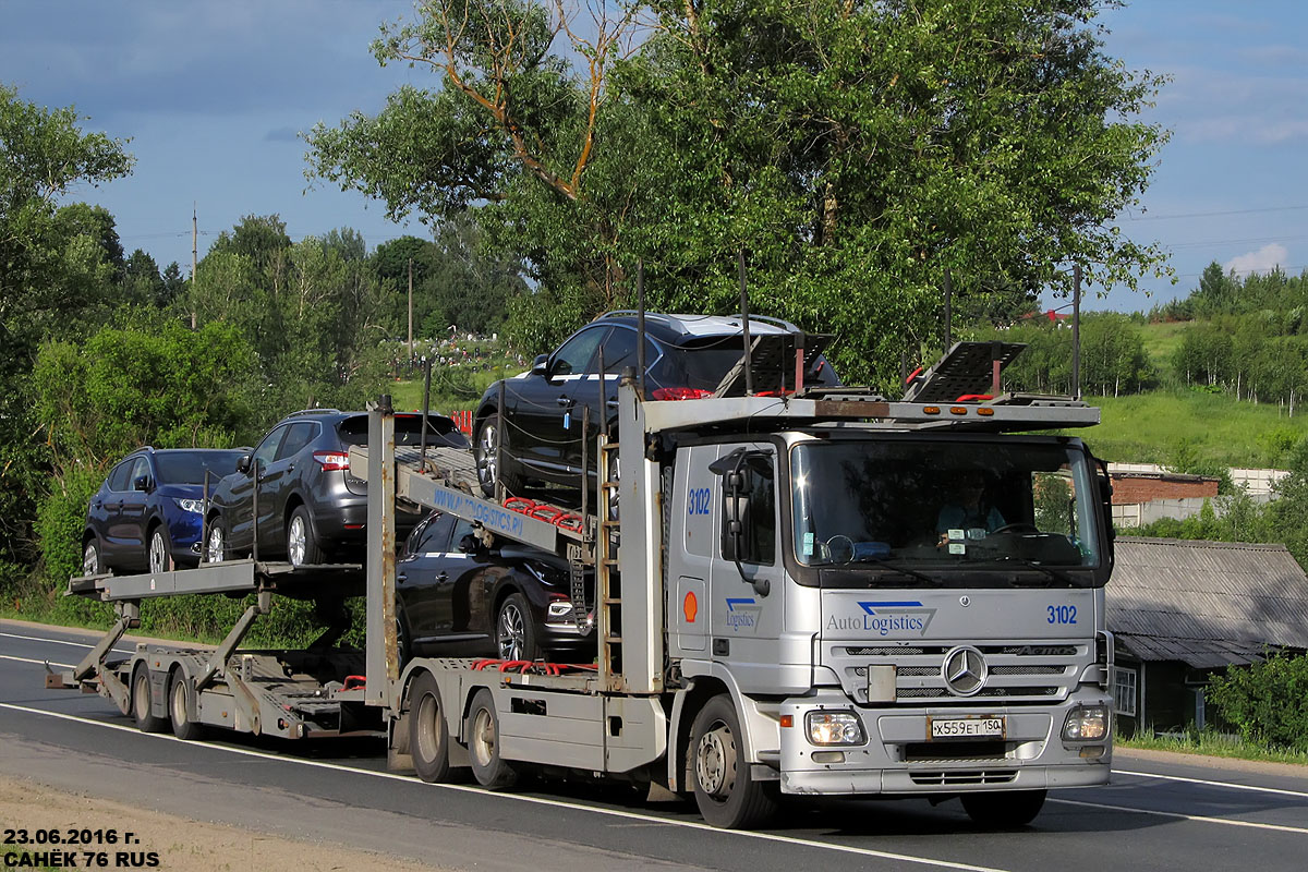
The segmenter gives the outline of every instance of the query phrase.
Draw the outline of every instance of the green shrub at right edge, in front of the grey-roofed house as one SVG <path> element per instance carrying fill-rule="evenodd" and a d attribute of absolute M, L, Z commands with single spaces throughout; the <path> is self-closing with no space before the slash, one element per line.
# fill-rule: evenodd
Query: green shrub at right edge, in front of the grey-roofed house
<path fill-rule="evenodd" d="M 1277 652 L 1214 676 L 1209 698 L 1240 736 L 1264 748 L 1308 750 L 1308 656 Z"/>

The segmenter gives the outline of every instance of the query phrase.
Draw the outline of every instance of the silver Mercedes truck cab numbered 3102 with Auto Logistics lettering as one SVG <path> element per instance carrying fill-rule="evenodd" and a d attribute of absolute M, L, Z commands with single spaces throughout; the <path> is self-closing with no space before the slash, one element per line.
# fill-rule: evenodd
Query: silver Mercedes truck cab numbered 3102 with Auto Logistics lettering
<path fill-rule="evenodd" d="M 664 566 L 675 680 L 730 694 L 751 778 L 1006 822 L 1105 782 L 1112 536 L 1080 439 L 753 429 L 674 439 Z"/>

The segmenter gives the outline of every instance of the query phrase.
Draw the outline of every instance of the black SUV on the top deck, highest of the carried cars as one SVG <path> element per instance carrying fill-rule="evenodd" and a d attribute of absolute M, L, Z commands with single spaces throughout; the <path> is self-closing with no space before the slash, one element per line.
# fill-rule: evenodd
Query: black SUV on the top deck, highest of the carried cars
<path fill-rule="evenodd" d="M 753 388 L 760 394 L 793 390 L 798 327 L 749 316 Z M 820 353 L 827 336 L 804 337 L 806 387 L 840 384 Z M 695 400 L 744 394 L 744 336 L 739 316 L 645 315 L 645 391 L 651 400 Z M 603 380 L 600 387 L 600 358 Z M 521 493 L 525 477 L 581 485 L 582 416 L 590 409 L 591 434 L 617 420 L 617 382 L 637 365 L 637 316 L 619 311 L 586 324 L 552 354 L 540 354 L 531 370 L 496 382 L 481 395 L 473 417 L 473 451 L 481 489 L 501 481 Z M 504 417 L 498 412 L 504 387 Z M 504 447 L 502 459 L 500 447 Z M 594 451 L 591 451 L 594 454 Z M 594 459 L 587 464 L 595 475 Z"/>

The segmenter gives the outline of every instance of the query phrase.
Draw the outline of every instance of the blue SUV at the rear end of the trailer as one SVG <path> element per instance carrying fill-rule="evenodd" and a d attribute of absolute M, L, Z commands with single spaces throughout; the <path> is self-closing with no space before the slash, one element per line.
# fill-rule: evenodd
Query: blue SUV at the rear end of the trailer
<path fill-rule="evenodd" d="M 82 574 L 165 573 L 199 563 L 204 473 L 217 486 L 242 454 L 145 446 L 123 458 L 86 509 Z"/>

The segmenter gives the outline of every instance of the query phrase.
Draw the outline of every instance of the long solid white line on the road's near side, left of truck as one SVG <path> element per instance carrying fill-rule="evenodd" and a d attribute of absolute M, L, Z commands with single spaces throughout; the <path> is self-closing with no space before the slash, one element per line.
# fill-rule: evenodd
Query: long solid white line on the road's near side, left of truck
<path fill-rule="evenodd" d="M 177 739 L 174 736 L 169 736 L 169 735 L 165 735 L 165 733 L 145 733 L 145 732 L 139 731 L 136 727 L 128 727 L 128 726 L 124 726 L 124 724 L 111 724 L 111 723 L 105 723 L 102 720 L 92 720 L 92 719 L 88 719 L 88 718 L 78 718 L 76 715 L 68 715 L 68 714 L 64 714 L 61 711 L 46 711 L 44 709 L 31 709 L 29 706 L 16 706 L 16 705 L 9 703 L 9 702 L 0 702 L 0 709 L 9 709 L 12 711 L 22 711 L 22 713 L 33 714 L 33 715 L 43 715 L 46 718 L 58 718 L 60 720 L 76 720 L 78 723 L 90 724 L 93 727 L 107 727 L 109 729 L 122 729 L 124 732 L 135 733 L 135 735 L 141 736 L 144 739 L 157 739 L 157 740 L 162 740 L 162 741 L 181 741 L 181 739 Z M 191 744 L 191 743 L 187 743 L 187 744 Z M 264 760 L 273 760 L 273 761 L 283 762 L 283 763 L 293 763 L 293 765 L 297 765 L 297 766 L 313 766 L 315 769 L 335 769 L 335 770 L 339 770 L 339 771 L 353 773 L 356 775 L 370 775 L 373 778 L 387 778 L 387 779 L 399 780 L 399 782 L 404 782 L 404 783 L 408 783 L 408 784 L 416 784 L 416 786 L 422 786 L 422 787 L 436 787 L 436 788 L 441 788 L 441 790 L 458 791 L 458 792 L 463 792 L 463 794 L 480 794 L 481 796 L 487 796 L 487 797 L 506 799 L 506 800 L 514 800 L 514 801 L 518 801 L 518 803 L 530 803 L 530 804 L 534 804 L 534 805 L 551 805 L 551 807 L 555 807 L 555 808 L 568 808 L 568 809 L 573 809 L 573 811 L 578 811 L 578 812 L 594 812 L 596 814 L 603 814 L 606 817 L 619 817 L 619 818 L 624 818 L 624 820 L 629 820 L 629 821 L 642 821 L 642 822 L 646 822 L 646 824 L 658 824 L 658 825 L 662 825 L 662 826 L 678 826 L 678 828 L 681 828 L 681 829 L 705 830 L 705 831 L 709 831 L 709 833 L 719 833 L 719 834 L 726 835 L 726 837 L 739 837 L 739 838 L 757 839 L 757 841 L 761 841 L 761 842 L 778 842 L 778 843 L 782 843 L 782 845 L 794 845 L 794 846 L 799 846 L 799 847 L 814 847 L 814 848 L 820 848 L 820 850 L 824 850 L 824 851 L 835 851 L 837 854 L 852 854 L 852 855 L 857 855 L 857 856 L 871 856 L 871 858 L 876 858 L 876 859 L 880 859 L 880 860 L 893 860 L 896 863 L 913 863 L 913 864 L 917 864 L 917 865 L 930 865 L 930 867 L 937 867 L 937 868 L 942 868 L 942 869 L 961 869 L 964 872 L 1005 872 L 1003 869 L 998 869 L 998 868 L 994 868 L 994 867 L 971 865 L 968 863 L 952 863 L 950 860 L 934 860 L 931 858 L 913 856 L 910 854 L 895 854 L 892 851 L 874 851 L 871 848 L 853 847 L 853 846 L 848 846 L 848 845 L 832 845 L 832 843 L 828 843 L 828 842 L 818 842 L 818 841 L 814 841 L 814 839 L 793 838 L 793 837 L 789 837 L 789 835 L 776 835 L 776 834 L 772 834 L 772 833 L 751 833 L 751 831 L 747 831 L 747 830 L 719 830 L 715 826 L 709 826 L 708 824 L 700 824 L 700 822 L 696 822 L 696 821 L 678 821 L 678 820 L 666 818 L 666 817 L 658 817 L 655 814 L 644 814 L 644 813 L 640 813 L 640 812 L 628 812 L 628 811 L 616 809 L 616 808 L 599 808 L 599 807 L 595 807 L 595 805 L 585 805 L 582 803 L 569 803 L 569 801 L 557 800 L 557 799 L 544 799 L 544 797 L 540 797 L 540 796 L 522 796 L 519 794 L 498 794 L 498 792 L 490 792 L 490 791 L 483 790 L 480 787 L 470 787 L 467 784 L 428 784 L 425 782 L 419 780 L 417 778 L 413 778 L 412 775 L 396 775 L 395 773 L 379 773 L 379 771 L 374 771 L 374 770 L 370 770 L 370 769 L 358 769 L 356 766 L 341 766 L 340 763 L 328 763 L 328 762 L 323 762 L 323 761 L 318 761 L 318 760 L 300 760 L 297 757 L 280 757 L 277 754 L 269 754 L 267 752 L 260 752 L 260 750 L 251 750 L 249 748 L 230 748 L 230 746 L 226 746 L 226 745 L 213 745 L 213 744 L 207 744 L 207 745 L 204 745 L 204 748 L 212 749 L 212 750 L 225 750 L 228 753 L 242 754 L 242 756 L 246 756 L 246 757 L 260 757 L 260 758 L 264 758 Z"/>

